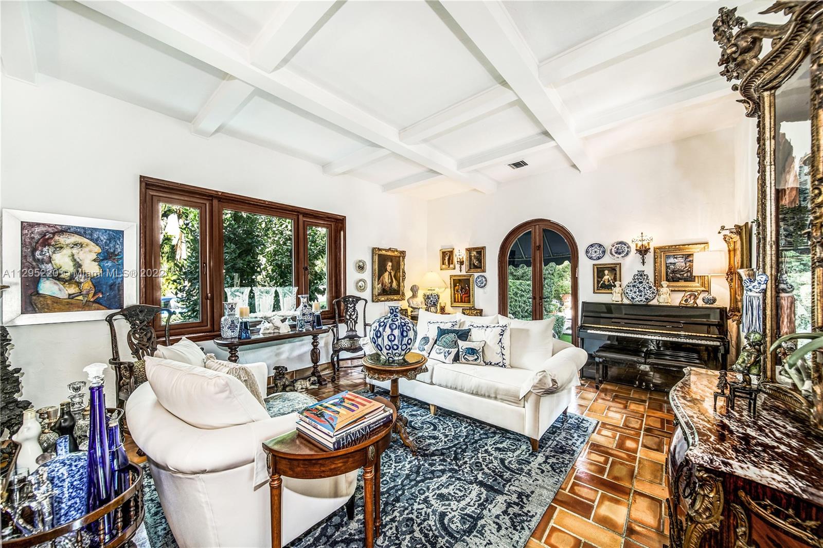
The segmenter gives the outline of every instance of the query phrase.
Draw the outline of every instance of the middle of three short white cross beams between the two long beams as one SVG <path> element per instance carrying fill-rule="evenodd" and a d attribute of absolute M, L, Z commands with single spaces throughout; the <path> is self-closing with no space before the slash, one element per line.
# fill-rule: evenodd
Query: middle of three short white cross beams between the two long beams
<path fill-rule="evenodd" d="M 407 143 L 421 142 L 428 137 L 434 137 L 462 123 L 471 122 L 475 118 L 489 114 L 492 110 L 499 109 L 506 104 L 514 103 L 516 100 L 518 100 L 517 94 L 509 87 L 494 86 L 448 109 L 432 114 L 420 122 L 413 123 L 408 128 L 401 129 L 400 140 Z"/>

